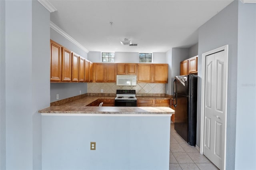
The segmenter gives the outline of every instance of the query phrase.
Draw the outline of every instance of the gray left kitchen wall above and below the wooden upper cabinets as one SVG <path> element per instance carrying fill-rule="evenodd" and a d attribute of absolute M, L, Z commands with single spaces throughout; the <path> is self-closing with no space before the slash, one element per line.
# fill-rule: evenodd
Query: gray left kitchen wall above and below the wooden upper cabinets
<path fill-rule="evenodd" d="M 81 57 L 88 59 L 88 54 L 77 47 L 74 43 L 70 42 L 58 32 L 50 28 L 50 38 L 51 40 L 63 45 L 67 49 L 77 53 Z M 59 99 L 66 99 L 68 97 L 73 97 L 81 94 L 87 93 L 87 83 L 50 83 L 50 102 L 57 101 L 56 94 L 59 94 Z"/>

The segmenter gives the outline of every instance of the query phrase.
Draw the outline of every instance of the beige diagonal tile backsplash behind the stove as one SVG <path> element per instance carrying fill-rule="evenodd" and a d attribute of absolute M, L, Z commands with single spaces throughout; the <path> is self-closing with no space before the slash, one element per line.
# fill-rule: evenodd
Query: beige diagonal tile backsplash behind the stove
<path fill-rule="evenodd" d="M 101 89 L 103 92 L 101 92 Z M 137 83 L 136 86 L 117 86 L 116 83 L 87 83 L 87 93 L 116 93 L 116 90 L 136 90 L 136 94 L 160 94 L 165 93 L 163 83 Z"/>

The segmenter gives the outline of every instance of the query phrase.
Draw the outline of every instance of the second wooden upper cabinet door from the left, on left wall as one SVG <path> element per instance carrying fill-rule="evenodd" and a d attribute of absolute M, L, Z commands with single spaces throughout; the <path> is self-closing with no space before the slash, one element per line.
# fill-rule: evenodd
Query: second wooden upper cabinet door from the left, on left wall
<path fill-rule="evenodd" d="M 62 81 L 71 81 L 72 73 L 72 54 L 71 51 L 62 47 Z"/>

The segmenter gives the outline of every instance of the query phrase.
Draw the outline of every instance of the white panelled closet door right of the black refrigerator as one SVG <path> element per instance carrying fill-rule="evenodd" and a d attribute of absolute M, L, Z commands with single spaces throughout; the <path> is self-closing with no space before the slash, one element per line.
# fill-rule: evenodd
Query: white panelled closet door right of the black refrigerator
<path fill-rule="evenodd" d="M 224 120 L 224 51 L 206 56 L 204 96 L 204 155 L 222 164 Z"/>

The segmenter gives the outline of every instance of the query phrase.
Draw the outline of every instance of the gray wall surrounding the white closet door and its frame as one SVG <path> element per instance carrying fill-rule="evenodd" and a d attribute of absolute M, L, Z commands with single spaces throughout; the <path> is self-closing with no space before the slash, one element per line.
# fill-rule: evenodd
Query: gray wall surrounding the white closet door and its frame
<path fill-rule="evenodd" d="M 199 28 L 197 139 L 200 146 L 202 53 L 228 44 L 228 103 L 226 169 L 234 169 L 236 144 L 236 84 L 238 1 L 232 2 Z"/>

